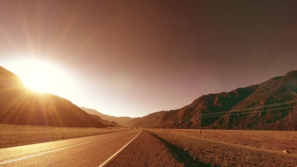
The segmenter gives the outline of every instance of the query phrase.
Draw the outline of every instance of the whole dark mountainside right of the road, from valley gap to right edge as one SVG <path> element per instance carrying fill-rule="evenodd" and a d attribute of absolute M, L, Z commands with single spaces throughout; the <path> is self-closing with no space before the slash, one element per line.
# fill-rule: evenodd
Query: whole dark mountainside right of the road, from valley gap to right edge
<path fill-rule="evenodd" d="M 200 119 L 191 118 L 197 118 L 200 113 L 215 113 L 293 100 L 297 100 L 297 71 L 291 71 L 283 77 L 275 77 L 261 84 L 237 88 L 228 93 L 203 95 L 180 109 L 155 112 L 132 120 L 129 125 L 198 128 Z M 283 104 L 274 108 L 292 105 L 297 105 L 297 103 Z M 263 110 L 259 108 L 252 111 L 260 109 Z M 273 109 L 273 107 L 265 109 Z M 245 112 L 249 111 L 251 110 Z M 297 130 L 297 123 L 294 121 L 297 120 L 296 111 L 296 108 L 290 108 L 240 115 L 220 114 L 220 117 L 203 119 L 202 126 L 212 129 Z M 179 123 L 185 119 L 189 121 Z"/>

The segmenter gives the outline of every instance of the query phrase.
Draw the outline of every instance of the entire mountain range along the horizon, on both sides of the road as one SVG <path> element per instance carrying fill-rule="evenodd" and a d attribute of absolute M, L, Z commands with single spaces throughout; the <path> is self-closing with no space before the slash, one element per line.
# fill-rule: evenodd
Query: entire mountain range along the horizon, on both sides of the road
<path fill-rule="evenodd" d="M 201 124 L 210 129 L 297 130 L 297 102 L 262 107 L 297 101 L 297 71 L 230 92 L 203 95 L 182 108 L 139 118 L 109 116 L 56 95 L 34 92 L 3 67 L 0 94 L 0 124 L 158 128 L 199 128 Z M 257 108 L 234 111 L 251 107 Z"/>

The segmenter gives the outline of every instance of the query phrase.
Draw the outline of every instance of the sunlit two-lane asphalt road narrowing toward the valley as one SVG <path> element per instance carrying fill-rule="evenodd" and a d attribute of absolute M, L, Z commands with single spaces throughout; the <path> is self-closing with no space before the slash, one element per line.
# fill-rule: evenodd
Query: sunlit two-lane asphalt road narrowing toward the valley
<path fill-rule="evenodd" d="M 140 129 L 0 149 L 0 167 L 98 167 Z"/>

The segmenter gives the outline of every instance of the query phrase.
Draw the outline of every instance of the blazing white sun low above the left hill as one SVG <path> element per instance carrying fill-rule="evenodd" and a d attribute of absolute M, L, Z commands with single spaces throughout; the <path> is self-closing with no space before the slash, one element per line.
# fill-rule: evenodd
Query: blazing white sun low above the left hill
<path fill-rule="evenodd" d="M 26 87 L 34 91 L 51 94 L 69 94 L 71 91 L 69 76 L 55 63 L 25 60 L 11 63 L 9 69 L 21 78 Z"/>

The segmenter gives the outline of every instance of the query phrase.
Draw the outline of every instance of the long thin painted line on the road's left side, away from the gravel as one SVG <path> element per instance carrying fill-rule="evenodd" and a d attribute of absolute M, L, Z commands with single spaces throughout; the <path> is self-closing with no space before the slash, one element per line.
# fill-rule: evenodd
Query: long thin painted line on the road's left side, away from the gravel
<path fill-rule="evenodd" d="M 133 131 L 129 131 L 129 132 L 126 132 L 126 133 L 130 133 L 130 132 L 133 132 Z M 73 146 L 66 146 L 66 147 L 62 147 L 62 148 L 58 148 L 58 149 L 54 149 L 54 150 L 49 150 L 49 151 L 45 151 L 45 152 L 41 152 L 41 153 L 37 153 L 37 154 L 33 154 L 33 155 L 24 156 L 24 157 L 21 157 L 21 158 L 15 158 L 15 159 L 12 159 L 12 160 L 2 161 L 2 162 L 0 162 L 0 165 L 11 163 L 11 162 L 15 162 L 15 161 L 20 161 L 20 160 L 23 160 L 23 159 L 27 159 L 27 158 L 39 156 L 39 155 L 42 155 L 42 154 L 47 154 L 47 153 L 50 153 L 50 152 L 55 152 L 55 151 L 63 150 L 63 149 L 66 149 L 66 148 L 71 148 L 71 147 L 74 147 L 74 146 L 85 145 L 85 144 L 88 144 L 88 143 L 91 143 L 91 142 L 95 142 L 95 141 L 103 140 L 103 139 L 108 139 L 108 138 L 119 136 L 119 135 L 123 135 L 123 134 L 126 134 L 126 133 L 122 133 L 122 134 L 118 134 L 118 135 L 114 135 L 114 136 L 109 136 L 109 137 L 105 137 L 105 138 L 101 138 L 101 139 L 96 139 L 96 140 L 93 140 L 93 141 L 89 141 L 89 142 L 85 142 L 85 143 L 80 143 L 80 144 L 73 145 Z"/>

